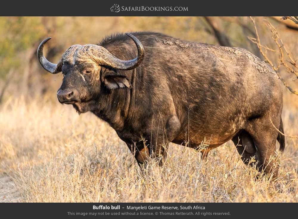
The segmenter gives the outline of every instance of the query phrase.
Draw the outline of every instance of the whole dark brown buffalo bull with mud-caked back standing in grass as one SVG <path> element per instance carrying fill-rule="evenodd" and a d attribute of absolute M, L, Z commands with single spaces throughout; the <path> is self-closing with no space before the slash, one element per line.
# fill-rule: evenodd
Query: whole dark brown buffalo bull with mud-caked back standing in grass
<path fill-rule="evenodd" d="M 70 46 L 58 64 L 43 55 L 50 38 L 41 42 L 41 66 L 63 73 L 60 103 L 108 122 L 139 165 L 164 158 L 169 142 L 199 149 L 207 138 L 207 154 L 232 139 L 244 163 L 272 173 L 276 140 L 283 150 L 285 139 L 274 128 L 283 132 L 283 94 L 270 66 L 246 49 L 126 35 Z"/>

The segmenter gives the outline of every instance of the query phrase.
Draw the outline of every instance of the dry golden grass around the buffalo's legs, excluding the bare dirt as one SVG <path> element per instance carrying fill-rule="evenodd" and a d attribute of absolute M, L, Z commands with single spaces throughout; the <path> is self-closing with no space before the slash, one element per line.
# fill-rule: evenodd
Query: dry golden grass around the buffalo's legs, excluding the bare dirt
<path fill-rule="evenodd" d="M 296 98 L 296 99 L 295 99 Z M 298 141 L 287 139 L 278 183 L 255 179 L 228 142 L 207 161 L 170 145 L 163 167 L 141 172 L 115 131 L 92 114 L 47 99 L 0 106 L 0 175 L 24 202 L 297 202 Z M 285 132 L 298 135 L 297 97 L 285 95 Z M 0 197 L 1 198 L 1 197 Z"/>

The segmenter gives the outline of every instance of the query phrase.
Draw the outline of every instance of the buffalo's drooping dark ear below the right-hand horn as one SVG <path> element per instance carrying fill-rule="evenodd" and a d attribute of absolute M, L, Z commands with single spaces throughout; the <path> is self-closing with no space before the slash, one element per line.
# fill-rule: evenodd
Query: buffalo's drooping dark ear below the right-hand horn
<path fill-rule="evenodd" d="M 105 69 L 103 83 L 109 89 L 131 88 L 128 78 L 112 69 Z"/>

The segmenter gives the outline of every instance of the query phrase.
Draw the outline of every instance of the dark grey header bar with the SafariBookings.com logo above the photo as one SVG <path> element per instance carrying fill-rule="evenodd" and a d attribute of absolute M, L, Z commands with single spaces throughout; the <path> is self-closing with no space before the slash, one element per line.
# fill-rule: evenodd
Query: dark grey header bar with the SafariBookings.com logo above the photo
<path fill-rule="evenodd" d="M 293 16 L 298 3 L 273 1 L 2 1 L 1 16 Z"/>

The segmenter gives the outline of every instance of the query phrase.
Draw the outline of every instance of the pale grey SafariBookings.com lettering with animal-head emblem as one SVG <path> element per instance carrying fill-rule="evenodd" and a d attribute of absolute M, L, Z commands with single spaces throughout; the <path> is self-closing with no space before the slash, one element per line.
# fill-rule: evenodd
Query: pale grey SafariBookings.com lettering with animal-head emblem
<path fill-rule="evenodd" d="M 111 12 L 119 12 L 119 11 L 188 11 L 186 6 L 119 6 L 119 4 L 114 4 L 110 8 Z"/>

